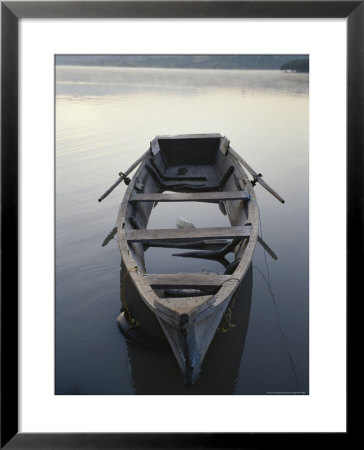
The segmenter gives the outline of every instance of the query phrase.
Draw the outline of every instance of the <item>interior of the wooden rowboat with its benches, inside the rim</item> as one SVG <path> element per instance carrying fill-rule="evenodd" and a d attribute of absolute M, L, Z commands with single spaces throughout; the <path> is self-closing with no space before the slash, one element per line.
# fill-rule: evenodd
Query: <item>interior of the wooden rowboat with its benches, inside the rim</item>
<path fill-rule="evenodd" d="M 175 256 L 210 259 L 221 263 L 221 276 L 231 275 L 241 260 L 249 238 L 250 192 L 240 165 L 224 151 L 223 138 L 156 138 L 151 156 L 141 165 L 130 192 L 125 215 L 126 238 L 138 266 L 146 272 L 148 248 L 173 248 Z M 179 202 L 207 202 L 227 216 L 229 225 L 207 228 L 148 229 L 153 208 L 159 202 L 173 203 L 178 217 Z M 242 226 L 246 228 L 242 232 Z M 235 257 L 227 258 L 233 253 Z M 232 261 L 231 261 L 232 259 Z M 178 275 L 178 274 L 177 274 Z M 224 281 L 215 274 L 201 275 L 188 285 L 175 275 L 153 284 L 159 297 L 193 297 L 214 294 Z M 196 275 L 196 274 L 194 274 Z M 161 275 L 162 276 L 162 275 Z M 209 278 L 209 279 L 207 279 Z"/>

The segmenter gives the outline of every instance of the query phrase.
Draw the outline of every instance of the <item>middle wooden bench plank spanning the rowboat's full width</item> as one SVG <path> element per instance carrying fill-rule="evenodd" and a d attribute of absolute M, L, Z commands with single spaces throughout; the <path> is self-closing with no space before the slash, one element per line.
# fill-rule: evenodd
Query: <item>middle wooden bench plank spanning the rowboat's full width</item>
<path fill-rule="evenodd" d="M 158 230 L 125 230 L 129 242 L 181 241 L 202 239 L 236 239 L 250 236 L 251 226 L 216 228 L 180 228 Z"/>

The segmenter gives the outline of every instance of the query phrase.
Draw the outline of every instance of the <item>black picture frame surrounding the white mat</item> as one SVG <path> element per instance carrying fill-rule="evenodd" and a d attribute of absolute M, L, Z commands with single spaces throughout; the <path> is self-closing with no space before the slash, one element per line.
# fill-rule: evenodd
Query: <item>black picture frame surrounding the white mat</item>
<path fill-rule="evenodd" d="M 276 441 L 292 447 L 298 438 L 295 433 L 18 433 L 18 22 L 21 18 L 115 17 L 347 18 L 347 302 L 359 290 L 363 273 L 364 1 L 1 2 L 1 448 L 258 448 L 271 447 Z M 336 442 L 347 439 L 348 432 L 349 425 L 346 433 L 335 433 Z M 318 444 L 319 435 L 303 433 L 298 442 L 305 445 L 314 436 Z M 322 437 L 327 443 L 327 436 L 322 433 Z"/>

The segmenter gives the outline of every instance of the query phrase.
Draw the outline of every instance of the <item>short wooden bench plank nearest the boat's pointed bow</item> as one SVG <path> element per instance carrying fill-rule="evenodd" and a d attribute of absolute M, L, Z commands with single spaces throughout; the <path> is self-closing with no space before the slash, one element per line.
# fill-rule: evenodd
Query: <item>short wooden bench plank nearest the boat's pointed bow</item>
<path fill-rule="evenodd" d="M 214 273 L 173 273 L 173 274 L 146 274 L 143 278 L 153 287 L 167 288 L 211 288 L 219 287 L 231 280 L 231 275 L 216 275 Z M 234 281 L 235 278 L 234 278 Z"/>

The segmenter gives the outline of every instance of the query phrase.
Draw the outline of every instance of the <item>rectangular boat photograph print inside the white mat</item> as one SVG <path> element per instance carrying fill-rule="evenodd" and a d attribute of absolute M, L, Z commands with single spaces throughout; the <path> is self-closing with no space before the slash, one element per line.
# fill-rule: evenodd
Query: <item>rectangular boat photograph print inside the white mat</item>
<path fill-rule="evenodd" d="M 55 56 L 55 394 L 309 394 L 309 55 Z"/>

